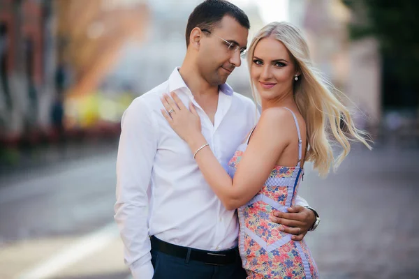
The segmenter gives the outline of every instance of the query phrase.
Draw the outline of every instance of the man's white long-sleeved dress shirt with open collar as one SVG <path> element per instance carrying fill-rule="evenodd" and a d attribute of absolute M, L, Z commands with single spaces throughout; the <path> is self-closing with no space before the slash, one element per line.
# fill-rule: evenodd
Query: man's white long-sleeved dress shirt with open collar
<path fill-rule="evenodd" d="M 115 220 L 125 246 L 125 262 L 134 278 L 152 279 L 149 235 L 203 250 L 237 246 L 235 211 L 224 208 L 205 181 L 188 144 L 161 114 L 163 93 L 175 91 L 186 107 L 193 102 L 205 139 L 227 169 L 237 146 L 256 123 L 256 106 L 228 84 L 219 89 L 214 125 L 193 100 L 177 68 L 168 81 L 133 100 L 122 116 Z M 308 205 L 300 197 L 297 204 Z"/>

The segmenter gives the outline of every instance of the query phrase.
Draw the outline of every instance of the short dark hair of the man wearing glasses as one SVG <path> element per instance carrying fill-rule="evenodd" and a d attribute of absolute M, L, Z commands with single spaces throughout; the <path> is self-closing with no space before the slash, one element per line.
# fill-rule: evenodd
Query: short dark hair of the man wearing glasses
<path fill-rule="evenodd" d="M 186 25 L 186 47 L 189 46 L 189 37 L 195 27 L 212 31 L 223 20 L 223 17 L 229 15 L 247 29 L 250 29 L 249 18 L 242 9 L 225 0 L 206 0 L 200 3 L 189 15 Z"/>

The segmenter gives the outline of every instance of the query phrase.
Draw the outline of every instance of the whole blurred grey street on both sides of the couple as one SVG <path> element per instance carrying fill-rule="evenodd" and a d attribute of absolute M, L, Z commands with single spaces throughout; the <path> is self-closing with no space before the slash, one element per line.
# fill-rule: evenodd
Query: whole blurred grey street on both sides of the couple
<path fill-rule="evenodd" d="M 306 167 L 300 195 L 321 225 L 307 235 L 322 278 L 418 278 L 419 151 L 355 149 L 323 180 Z M 113 222 L 115 148 L 0 188 L 0 278 L 127 278 Z"/>

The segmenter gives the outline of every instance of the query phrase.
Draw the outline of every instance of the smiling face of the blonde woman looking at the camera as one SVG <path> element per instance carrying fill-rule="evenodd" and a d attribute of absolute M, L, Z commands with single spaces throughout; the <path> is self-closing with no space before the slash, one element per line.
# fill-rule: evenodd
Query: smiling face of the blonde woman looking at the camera
<path fill-rule="evenodd" d="M 285 45 L 267 37 L 256 45 L 250 75 L 260 98 L 272 100 L 292 93 L 294 77 L 299 73 Z"/>

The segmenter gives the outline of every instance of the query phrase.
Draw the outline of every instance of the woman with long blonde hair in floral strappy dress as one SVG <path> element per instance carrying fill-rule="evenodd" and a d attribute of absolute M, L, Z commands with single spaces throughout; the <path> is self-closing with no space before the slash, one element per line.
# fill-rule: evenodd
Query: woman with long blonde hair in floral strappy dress
<path fill-rule="evenodd" d="M 172 93 L 162 100 L 170 126 L 190 146 L 200 170 L 226 209 L 238 209 L 239 250 L 249 278 L 318 278 L 306 243 L 294 241 L 270 221 L 272 211 L 293 206 L 304 162 L 325 175 L 350 150 L 349 140 L 365 141 L 351 115 L 311 66 L 307 43 L 286 22 L 268 24 L 248 54 L 253 98 L 262 112 L 246 142 L 229 163 L 219 164 L 200 132 L 200 119 Z M 170 114 L 168 114 L 170 112 Z M 172 113 L 175 112 L 175 113 Z M 330 138 L 342 146 L 335 160 Z"/>

